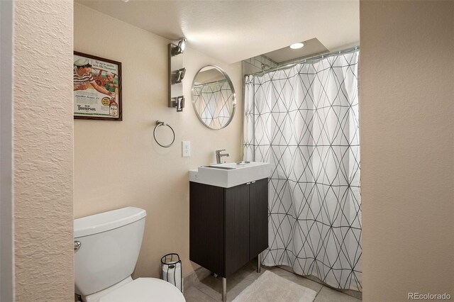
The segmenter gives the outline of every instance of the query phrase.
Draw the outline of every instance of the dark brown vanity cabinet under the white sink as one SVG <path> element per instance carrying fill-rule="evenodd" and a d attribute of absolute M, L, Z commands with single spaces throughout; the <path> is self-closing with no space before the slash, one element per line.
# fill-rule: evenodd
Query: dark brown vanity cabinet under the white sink
<path fill-rule="evenodd" d="M 189 190 L 192 262 L 226 278 L 268 247 L 268 179 Z"/>

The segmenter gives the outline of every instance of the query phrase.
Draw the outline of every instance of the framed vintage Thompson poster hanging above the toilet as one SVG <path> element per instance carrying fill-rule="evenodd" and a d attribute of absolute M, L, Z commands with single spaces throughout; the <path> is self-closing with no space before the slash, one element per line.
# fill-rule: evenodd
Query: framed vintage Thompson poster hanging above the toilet
<path fill-rule="evenodd" d="M 74 51 L 74 118 L 121 121 L 121 62 Z"/>

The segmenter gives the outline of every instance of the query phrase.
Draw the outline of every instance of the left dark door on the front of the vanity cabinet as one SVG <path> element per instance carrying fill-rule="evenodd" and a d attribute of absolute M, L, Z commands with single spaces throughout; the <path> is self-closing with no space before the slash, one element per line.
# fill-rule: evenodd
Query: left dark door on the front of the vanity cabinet
<path fill-rule="evenodd" d="M 226 276 L 249 262 L 249 186 L 226 189 Z"/>

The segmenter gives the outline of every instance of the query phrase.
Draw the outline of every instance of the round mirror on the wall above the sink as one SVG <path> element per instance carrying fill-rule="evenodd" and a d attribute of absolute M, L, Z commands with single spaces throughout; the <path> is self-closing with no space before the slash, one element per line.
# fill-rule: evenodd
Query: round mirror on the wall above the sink
<path fill-rule="evenodd" d="M 226 72 L 214 65 L 201 68 L 192 82 L 192 106 L 206 127 L 225 128 L 236 107 L 235 89 Z"/>

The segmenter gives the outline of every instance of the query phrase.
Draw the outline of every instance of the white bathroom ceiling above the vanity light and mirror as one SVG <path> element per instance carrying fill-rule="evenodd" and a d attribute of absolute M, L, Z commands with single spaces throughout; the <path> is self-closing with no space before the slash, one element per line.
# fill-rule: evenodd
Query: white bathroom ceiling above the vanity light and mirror
<path fill-rule="evenodd" d="M 227 63 L 316 38 L 329 51 L 358 45 L 359 0 L 76 0 Z"/>

